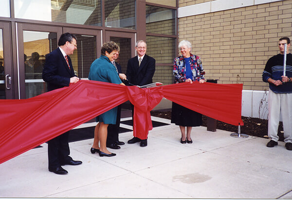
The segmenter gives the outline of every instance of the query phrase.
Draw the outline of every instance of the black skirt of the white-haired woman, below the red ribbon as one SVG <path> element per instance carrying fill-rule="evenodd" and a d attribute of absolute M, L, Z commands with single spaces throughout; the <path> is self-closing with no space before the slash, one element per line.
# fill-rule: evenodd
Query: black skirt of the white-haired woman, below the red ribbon
<path fill-rule="evenodd" d="M 201 126 L 202 114 L 172 102 L 171 123 L 179 126 Z"/>

